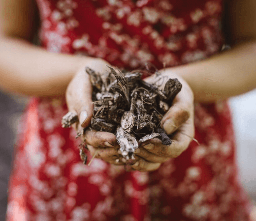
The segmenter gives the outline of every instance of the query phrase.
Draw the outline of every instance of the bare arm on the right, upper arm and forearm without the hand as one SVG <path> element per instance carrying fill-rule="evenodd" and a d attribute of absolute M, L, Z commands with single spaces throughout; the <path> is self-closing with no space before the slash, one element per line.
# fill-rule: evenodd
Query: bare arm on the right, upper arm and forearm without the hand
<path fill-rule="evenodd" d="M 175 72 L 189 83 L 197 101 L 223 99 L 256 87 L 256 1 L 229 0 L 227 22 L 233 49 L 166 69 L 166 74 Z"/>

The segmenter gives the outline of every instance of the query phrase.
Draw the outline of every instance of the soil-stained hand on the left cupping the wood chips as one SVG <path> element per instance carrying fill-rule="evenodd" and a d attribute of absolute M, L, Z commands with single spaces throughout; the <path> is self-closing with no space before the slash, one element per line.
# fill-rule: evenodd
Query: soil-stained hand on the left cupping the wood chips
<path fill-rule="evenodd" d="M 82 68 L 74 75 L 66 89 L 68 110 L 77 113 L 79 118 L 79 123 L 73 125 L 78 132 L 90 126 L 94 110 L 92 101 L 93 87 L 85 67 L 88 66 L 96 72 L 103 74 L 108 70 L 107 66 L 111 66 L 100 58 L 88 58 L 86 61 L 82 64 Z M 101 158 L 111 164 L 124 165 L 122 161 L 116 161 L 119 158 L 117 153 L 119 146 L 114 134 L 88 129 L 83 139 L 86 141 L 92 155 L 97 151 L 96 158 Z"/>

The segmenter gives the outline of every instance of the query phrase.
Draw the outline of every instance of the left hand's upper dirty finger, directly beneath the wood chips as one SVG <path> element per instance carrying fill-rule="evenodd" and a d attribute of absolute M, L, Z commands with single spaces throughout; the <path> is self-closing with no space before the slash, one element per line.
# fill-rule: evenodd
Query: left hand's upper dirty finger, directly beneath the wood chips
<path fill-rule="evenodd" d="M 95 130 L 86 130 L 83 137 L 87 144 L 92 145 L 96 148 L 103 147 L 119 147 L 117 144 L 116 136 L 108 132 L 100 132 Z"/>

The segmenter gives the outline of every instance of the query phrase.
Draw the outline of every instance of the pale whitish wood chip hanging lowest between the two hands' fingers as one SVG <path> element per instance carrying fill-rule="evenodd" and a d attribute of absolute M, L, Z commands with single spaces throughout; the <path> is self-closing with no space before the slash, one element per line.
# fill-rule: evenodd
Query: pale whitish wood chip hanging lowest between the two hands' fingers
<path fill-rule="evenodd" d="M 122 127 L 119 127 L 116 132 L 116 138 L 123 157 L 127 160 L 133 159 L 133 153 L 139 147 L 135 136 L 127 133 Z"/>

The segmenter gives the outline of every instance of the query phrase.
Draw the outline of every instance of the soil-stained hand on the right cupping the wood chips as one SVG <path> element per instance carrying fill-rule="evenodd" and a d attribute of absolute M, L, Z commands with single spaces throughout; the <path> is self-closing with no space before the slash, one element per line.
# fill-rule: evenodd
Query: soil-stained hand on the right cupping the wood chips
<path fill-rule="evenodd" d="M 136 154 L 140 159 L 131 166 L 135 170 L 151 171 L 158 169 L 161 163 L 170 158 L 178 157 L 185 151 L 194 137 L 194 97 L 190 86 L 173 73 L 163 71 L 161 76 L 165 79 L 162 87 L 169 78 L 177 78 L 182 83 L 181 91 L 174 98 L 172 106 L 161 120 L 161 127 L 168 135 L 172 135 L 172 144 L 165 146 L 158 138 L 141 143 L 140 151 Z M 148 83 L 155 83 L 156 76 L 153 75 L 144 80 Z"/>

